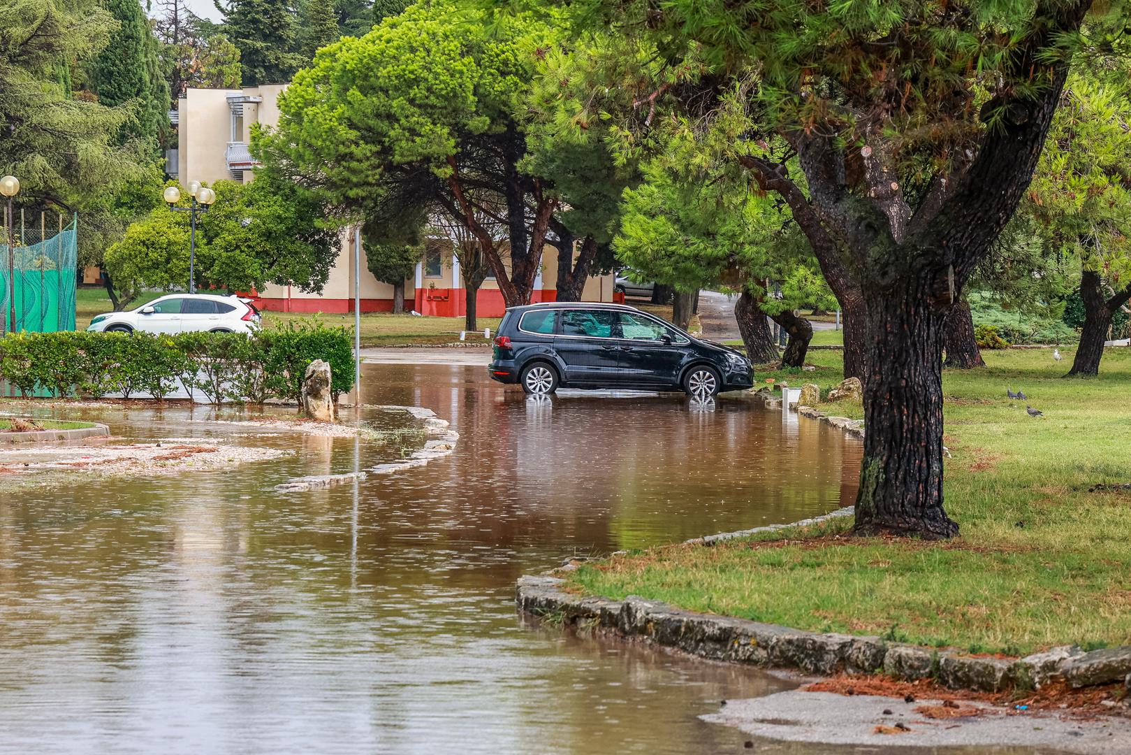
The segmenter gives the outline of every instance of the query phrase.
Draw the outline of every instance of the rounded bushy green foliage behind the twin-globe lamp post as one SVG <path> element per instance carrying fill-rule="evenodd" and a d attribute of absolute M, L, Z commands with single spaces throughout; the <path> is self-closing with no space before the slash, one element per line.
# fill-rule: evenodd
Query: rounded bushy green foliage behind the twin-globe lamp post
<path fill-rule="evenodd" d="M 213 188 L 216 201 L 197 224 L 197 285 L 250 291 L 278 283 L 321 291 L 338 238 L 320 228 L 325 211 L 311 192 L 270 175 Z M 191 197 L 182 195 L 181 206 L 188 206 Z M 184 285 L 189 240 L 189 213 L 156 207 L 106 251 L 106 268 L 130 291 Z"/>

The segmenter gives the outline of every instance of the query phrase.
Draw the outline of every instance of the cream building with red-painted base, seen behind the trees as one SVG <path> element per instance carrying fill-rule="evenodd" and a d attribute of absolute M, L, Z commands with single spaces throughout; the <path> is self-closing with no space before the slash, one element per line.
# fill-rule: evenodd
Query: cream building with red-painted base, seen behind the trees
<path fill-rule="evenodd" d="M 285 84 L 228 89 L 188 89 L 179 101 L 175 121 L 179 129 L 178 149 L 170 154 L 170 172 L 182 185 L 189 181 L 213 183 L 218 180 L 250 181 L 254 161 L 248 151 L 253 123 L 278 123 L 278 96 Z M 172 153 L 172 151 L 171 151 Z M 459 274 L 459 263 L 450 254 L 450 241 L 433 239 L 416 273 L 405 281 L 405 308 L 422 315 L 461 316 L 466 311 L 466 292 Z M 343 232 L 338 259 L 330 269 L 321 293 L 304 293 L 294 286 L 268 285 L 257 293 L 260 309 L 301 312 L 353 311 L 354 255 L 357 254 L 352 233 Z M 364 254 L 364 250 L 361 251 Z M 558 250 L 546 246 L 542 272 L 535 281 L 533 301 L 555 298 Z M 391 311 L 394 288 L 373 277 L 361 260 L 361 310 Z M 594 276 L 586 282 L 586 301 L 612 301 L 613 276 Z M 480 289 L 477 314 L 499 317 L 504 307 L 493 280 Z"/>

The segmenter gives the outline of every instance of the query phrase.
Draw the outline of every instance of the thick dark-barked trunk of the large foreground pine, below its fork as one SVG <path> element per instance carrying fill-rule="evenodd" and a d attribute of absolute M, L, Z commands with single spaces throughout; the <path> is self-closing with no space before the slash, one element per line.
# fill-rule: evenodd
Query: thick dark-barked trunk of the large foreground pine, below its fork
<path fill-rule="evenodd" d="M 864 458 L 856 532 L 952 538 L 942 507 L 942 341 L 946 310 L 915 282 L 866 298 Z"/>

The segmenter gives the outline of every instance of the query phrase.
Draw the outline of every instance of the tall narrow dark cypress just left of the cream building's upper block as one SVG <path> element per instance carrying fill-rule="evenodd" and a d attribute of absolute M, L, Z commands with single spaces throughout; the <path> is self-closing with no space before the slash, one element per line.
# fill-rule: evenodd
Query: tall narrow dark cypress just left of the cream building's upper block
<path fill-rule="evenodd" d="M 157 63 L 157 41 L 138 0 L 104 0 L 118 22 L 118 32 L 90 67 L 90 85 L 105 105 L 136 103 L 136 122 L 122 137 L 156 141 L 164 130 L 169 86 Z"/>

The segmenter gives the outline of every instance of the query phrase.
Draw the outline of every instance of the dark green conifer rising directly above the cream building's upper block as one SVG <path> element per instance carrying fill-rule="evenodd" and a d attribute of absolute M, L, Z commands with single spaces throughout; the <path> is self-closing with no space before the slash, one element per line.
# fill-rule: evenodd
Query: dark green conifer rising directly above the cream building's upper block
<path fill-rule="evenodd" d="M 287 0 L 228 0 L 224 26 L 240 50 L 243 86 L 284 84 L 305 62 Z"/>

